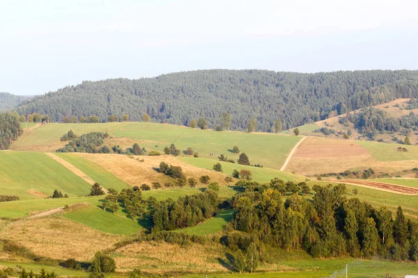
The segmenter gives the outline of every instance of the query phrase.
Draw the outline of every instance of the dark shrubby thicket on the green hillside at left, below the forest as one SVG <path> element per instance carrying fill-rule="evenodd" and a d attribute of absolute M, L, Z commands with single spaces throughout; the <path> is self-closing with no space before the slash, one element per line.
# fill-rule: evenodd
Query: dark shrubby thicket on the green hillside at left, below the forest
<path fill-rule="evenodd" d="M 98 153 L 100 152 L 100 149 L 97 149 L 97 147 L 103 145 L 103 140 L 107 137 L 109 137 L 109 134 L 104 132 L 86 133 L 80 136 L 79 138 L 72 139 L 64 147 L 57 149 L 56 152 Z"/>

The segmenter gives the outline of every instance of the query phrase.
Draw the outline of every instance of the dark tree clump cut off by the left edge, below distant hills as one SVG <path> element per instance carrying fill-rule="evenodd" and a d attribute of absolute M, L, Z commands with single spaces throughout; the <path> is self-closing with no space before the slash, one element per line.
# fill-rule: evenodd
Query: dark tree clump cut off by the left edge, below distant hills
<path fill-rule="evenodd" d="M 0 114 L 0 150 L 8 149 L 23 133 L 19 120 L 10 113 Z"/>

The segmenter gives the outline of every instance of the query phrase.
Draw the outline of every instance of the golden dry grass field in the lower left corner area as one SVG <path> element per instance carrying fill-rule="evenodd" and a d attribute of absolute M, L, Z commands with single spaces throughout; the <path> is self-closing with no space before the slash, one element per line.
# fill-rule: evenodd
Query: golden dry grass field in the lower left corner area
<path fill-rule="evenodd" d="M 90 260 L 98 250 L 121 240 L 121 236 L 56 217 L 10 222 L 2 229 L 0 238 L 12 240 L 39 256 L 79 261 Z"/>

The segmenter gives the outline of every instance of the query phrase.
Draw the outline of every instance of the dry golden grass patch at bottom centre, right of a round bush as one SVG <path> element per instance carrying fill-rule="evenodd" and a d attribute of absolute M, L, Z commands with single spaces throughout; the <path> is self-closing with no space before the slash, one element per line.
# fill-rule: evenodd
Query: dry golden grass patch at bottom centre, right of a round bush
<path fill-rule="evenodd" d="M 222 245 L 192 244 L 181 247 L 164 242 L 132 243 L 115 252 L 119 271 L 140 268 L 146 272 L 216 272 L 227 269 L 219 263 L 224 258 Z"/>

